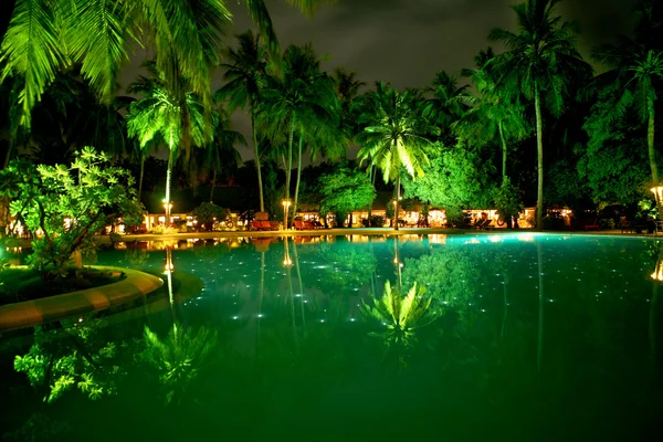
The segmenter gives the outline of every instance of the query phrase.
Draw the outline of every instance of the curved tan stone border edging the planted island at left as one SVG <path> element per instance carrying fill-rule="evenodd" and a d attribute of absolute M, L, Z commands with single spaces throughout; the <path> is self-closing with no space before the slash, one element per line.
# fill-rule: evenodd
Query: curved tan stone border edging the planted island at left
<path fill-rule="evenodd" d="M 123 272 L 116 283 L 65 293 L 40 299 L 0 306 L 0 333 L 32 327 L 82 313 L 97 312 L 145 296 L 164 285 L 164 281 L 131 269 L 93 265 L 93 269 Z"/>

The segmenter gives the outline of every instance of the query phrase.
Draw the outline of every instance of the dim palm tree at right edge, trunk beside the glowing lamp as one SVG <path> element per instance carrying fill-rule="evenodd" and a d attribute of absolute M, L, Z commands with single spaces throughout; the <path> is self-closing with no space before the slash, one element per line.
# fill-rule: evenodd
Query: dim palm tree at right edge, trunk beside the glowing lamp
<path fill-rule="evenodd" d="M 620 45 L 603 45 L 592 53 L 597 62 L 603 63 L 610 71 L 599 77 L 609 80 L 623 91 L 617 97 L 609 120 L 625 116 L 634 108 L 643 123 L 646 123 L 646 147 L 652 185 L 659 186 L 659 168 L 656 166 L 655 135 L 655 102 L 656 88 L 663 80 L 663 52 L 646 49 L 629 39 L 622 39 Z M 600 82 L 602 78 L 597 78 Z M 659 218 L 663 220 L 663 206 L 656 198 Z"/>

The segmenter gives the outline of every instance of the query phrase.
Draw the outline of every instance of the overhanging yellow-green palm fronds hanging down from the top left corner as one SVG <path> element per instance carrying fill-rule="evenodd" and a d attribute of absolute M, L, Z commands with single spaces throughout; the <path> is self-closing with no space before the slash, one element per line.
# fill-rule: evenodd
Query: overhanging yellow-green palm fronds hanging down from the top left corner
<path fill-rule="evenodd" d="M 305 13 L 332 2 L 285 1 Z M 242 2 L 277 59 L 278 41 L 264 0 Z M 225 0 L 15 0 L 0 44 L 0 81 L 21 80 L 19 120 L 29 127 L 32 108 L 59 71 L 81 64 L 82 76 L 107 104 L 115 95 L 119 67 L 128 59 L 127 49 L 135 41 L 148 42 L 180 106 L 186 106 L 190 92 L 201 97 L 211 135 L 211 74 L 219 62 L 222 30 L 231 19 Z M 182 77 L 187 84 L 179 82 Z M 191 134 L 186 109 L 180 117 L 187 148 Z"/>

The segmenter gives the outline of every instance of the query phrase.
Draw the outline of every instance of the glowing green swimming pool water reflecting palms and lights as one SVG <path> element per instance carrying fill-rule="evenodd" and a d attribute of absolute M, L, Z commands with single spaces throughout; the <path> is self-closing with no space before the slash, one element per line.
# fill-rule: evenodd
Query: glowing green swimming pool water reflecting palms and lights
<path fill-rule="evenodd" d="M 663 242 L 165 246 L 98 253 L 98 264 L 161 274 L 172 263 L 145 305 L 2 337 L 6 440 L 662 439 L 663 283 L 652 275 Z M 414 283 L 425 291 L 391 315 L 376 307 L 387 282 L 393 303 Z M 31 386 L 12 364 L 35 340 Z M 52 386 L 53 373 L 73 382 L 50 403 L 45 361 Z"/>

